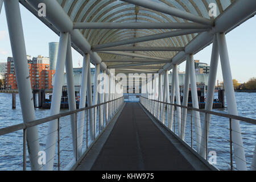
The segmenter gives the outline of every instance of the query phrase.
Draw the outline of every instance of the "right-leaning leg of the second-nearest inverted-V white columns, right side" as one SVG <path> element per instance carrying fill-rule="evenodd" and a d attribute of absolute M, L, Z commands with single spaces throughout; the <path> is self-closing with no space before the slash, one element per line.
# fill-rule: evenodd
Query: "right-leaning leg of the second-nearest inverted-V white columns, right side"
<path fill-rule="evenodd" d="M 194 63 L 193 55 L 188 55 L 187 61 L 189 63 L 189 76 L 190 76 L 190 83 L 191 83 L 192 105 L 196 109 L 199 109 L 197 86 L 196 86 L 196 72 L 195 72 L 195 63 Z M 197 152 L 199 152 L 200 151 L 201 135 L 202 135 L 199 111 L 193 111 L 193 120 L 194 120 L 195 131 L 196 131 L 196 148 L 197 148 Z"/>

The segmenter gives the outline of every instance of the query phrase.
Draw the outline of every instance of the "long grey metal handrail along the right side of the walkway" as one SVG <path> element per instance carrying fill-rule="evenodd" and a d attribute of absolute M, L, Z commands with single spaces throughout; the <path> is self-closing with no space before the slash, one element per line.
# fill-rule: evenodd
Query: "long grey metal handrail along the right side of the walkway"
<path fill-rule="evenodd" d="M 143 96 L 141 96 L 141 97 L 143 97 Z M 146 98 L 146 97 L 143 97 L 143 98 Z M 151 100 L 149 98 L 146 98 L 146 99 Z M 197 109 L 195 107 L 188 107 L 188 106 L 183 106 L 183 105 L 171 104 L 171 103 L 162 102 L 162 101 L 158 101 L 158 100 L 151 100 L 151 101 L 156 101 L 156 102 L 166 104 L 166 105 L 183 107 L 185 109 L 195 110 L 195 111 L 199 111 L 199 112 L 206 113 L 206 114 L 212 114 L 212 115 L 218 115 L 218 116 L 225 117 L 225 118 L 236 119 L 238 121 L 248 122 L 248 123 L 256 125 L 256 119 L 252 119 L 252 118 L 246 118 L 246 117 L 241 117 L 241 116 L 238 116 L 238 115 L 232 115 L 232 114 L 226 114 L 226 113 L 218 113 L 216 111 L 210 111 L 210 110 L 205 110 L 205 109 Z"/>

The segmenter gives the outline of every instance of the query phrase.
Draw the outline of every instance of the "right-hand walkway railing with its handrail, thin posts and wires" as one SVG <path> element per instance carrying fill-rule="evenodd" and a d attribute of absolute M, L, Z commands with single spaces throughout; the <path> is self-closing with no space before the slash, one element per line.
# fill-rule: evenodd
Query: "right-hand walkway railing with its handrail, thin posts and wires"
<path fill-rule="evenodd" d="M 255 138 L 251 141 L 249 138 L 253 138 L 254 135 L 251 134 L 248 136 L 250 132 L 254 133 L 253 130 L 256 129 L 256 119 L 171 104 L 143 96 L 140 97 L 140 102 L 159 122 L 171 130 L 177 137 L 184 140 L 188 146 L 190 145 L 194 150 L 194 147 L 196 147 L 197 150 L 195 151 L 205 160 L 208 161 L 208 152 L 212 151 L 210 148 L 214 148 L 214 150 L 220 151 L 220 156 L 218 156 L 218 158 L 222 160 L 222 166 L 220 165 L 221 169 L 226 165 L 228 165 L 230 170 L 237 169 L 237 166 L 235 167 L 234 165 L 236 163 L 233 161 L 233 158 L 239 160 L 240 163 L 245 163 L 247 168 L 249 168 L 248 165 L 250 164 L 246 162 L 246 158 L 249 158 L 248 161 L 251 163 L 250 167 L 256 168 L 253 166 L 254 164 L 252 162 L 254 160 L 253 158 L 256 156 L 254 148 Z M 177 108 L 179 107 L 180 109 L 178 110 Z M 184 108 L 184 110 L 181 108 Z M 190 110 L 190 112 L 187 112 L 188 110 Z M 176 121 L 175 123 L 175 120 L 178 122 Z M 243 127 L 241 126 L 241 130 L 243 129 L 245 131 L 234 129 L 232 124 L 233 121 L 244 122 Z M 211 122 L 214 123 L 211 124 Z M 201 127 L 202 123 L 204 123 L 204 127 Z M 210 125 L 213 125 L 211 132 L 209 130 Z M 250 132 L 248 133 L 246 130 Z M 233 139 L 233 135 L 245 135 L 245 137 L 242 136 L 242 138 L 245 139 L 245 143 L 238 144 L 236 139 Z M 240 156 L 241 153 L 236 154 L 233 145 L 236 145 L 236 148 L 238 147 L 237 150 L 245 150 L 245 158 Z"/>

